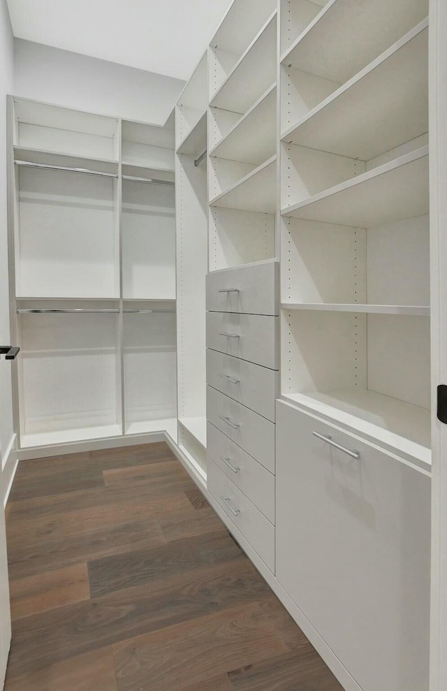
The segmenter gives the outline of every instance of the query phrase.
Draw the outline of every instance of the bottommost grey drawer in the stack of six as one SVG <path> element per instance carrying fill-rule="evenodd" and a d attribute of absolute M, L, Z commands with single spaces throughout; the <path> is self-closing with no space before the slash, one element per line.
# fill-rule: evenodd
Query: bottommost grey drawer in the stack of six
<path fill-rule="evenodd" d="M 274 526 L 210 458 L 207 488 L 244 538 L 274 573 Z"/>

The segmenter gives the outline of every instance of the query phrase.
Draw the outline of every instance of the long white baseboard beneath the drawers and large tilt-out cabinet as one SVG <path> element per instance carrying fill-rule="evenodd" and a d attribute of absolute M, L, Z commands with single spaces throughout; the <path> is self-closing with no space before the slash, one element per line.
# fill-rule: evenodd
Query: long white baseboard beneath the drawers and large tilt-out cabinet
<path fill-rule="evenodd" d="M 216 511 L 219 518 L 221 518 L 221 521 L 223 521 L 223 523 L 226 525 L 226 528 L 228 528 L 242 550 L 247 554 L 249 560 L 254 564 L 256 569 L 258 569 L 258 572 L 261 574 L 261 576 L 263 576 L 263 579 L 265 579 L 268 585 L 270 585 L 270 588 L 272 588 L 274 594 L 284 605 L 307 639 L 309 639 L 309 641 L 312 643 L 312 646 L 314 646 L 318 655 L 320 655 L 325 664 L 328 665 L 330 671 L 332 671 L 332 674 L 334 674 L 345 691 L 362 691 L 362 688 L 360 688 L 353 676 L 349 674 L 349 671 L 346 669 L 346 667 L 344 667 L 344 664 L 341 662 L 341 660 L 339 660 L 337 655 L 335 655 L 332 648 L 330 648 L 328 643 L 326 643 L 320 634 L 318 634 L 318 631 L 314 628 L 312 623 L 310 623 L 309 619 L 307 619 L 305 614 L 302 613 L 300 608 L 295 604 L 295 602 L 293 602 L 293 599 L 289 597 L 286 590 L 284 590 L 279 581 L 277 581 L 274 574 L 272 574 L 270 569 L 268 569 L 268 567 L 264 564 L 263 560 L 254 551 L 254 548 L 251 547 L 249 542 L 247 542 L 240 530 L 237 530 L 236 526 L 234 523 L 232 523 L 232 521 L 230 521 L 220 504 L 207 490 L 206 474 L 203 472 L 202 468 L 200 468 L 199 472 L 198 468 L 200 466 L 198 466 L 198 464 L 194 464 L 192 458 L 188 458 L 182 449 L 180 449 L 177 444 L 172 442 L 172 440 L 169 441 L 167 439 L 167 441 L 170 448 L 175 453 L 175 456 L 177 456 L 179 462 L 182 463 L 186 472 L 189 473 L 191 479 L 193 479 L 200 491 L 205 496 L 207 502 L 211 504 L 214 511 Z M 195 467 L 195 465 L 197 467 Z"/>

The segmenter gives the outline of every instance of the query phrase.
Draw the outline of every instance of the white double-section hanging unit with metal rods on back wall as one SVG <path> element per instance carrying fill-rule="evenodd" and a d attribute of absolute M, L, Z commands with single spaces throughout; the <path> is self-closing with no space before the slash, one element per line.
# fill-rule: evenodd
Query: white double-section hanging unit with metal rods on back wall
<path fill-rule="evenodd" d="M 20 449 L 176 439 L 173 117 L 9 109 Z"/>

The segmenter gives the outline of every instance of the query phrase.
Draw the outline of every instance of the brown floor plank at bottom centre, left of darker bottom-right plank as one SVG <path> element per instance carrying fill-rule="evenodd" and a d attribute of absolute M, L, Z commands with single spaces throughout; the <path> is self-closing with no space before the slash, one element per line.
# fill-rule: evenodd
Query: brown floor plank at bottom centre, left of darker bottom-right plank
<path fill-rule="evenodd" d="M 119 691 L 184 691 L 279 655 L 284 643 L 255 603 L 117 643 L 113 652 Z"/>

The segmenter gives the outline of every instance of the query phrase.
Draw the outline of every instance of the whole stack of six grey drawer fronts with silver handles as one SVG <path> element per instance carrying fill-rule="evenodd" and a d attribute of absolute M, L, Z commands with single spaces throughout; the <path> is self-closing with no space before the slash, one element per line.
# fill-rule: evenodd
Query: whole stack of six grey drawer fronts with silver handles
<path fill-rule="evenodd" d="M 207 488 L 272 573 L 278 288 L 273 260 L 207 275 Z"/>

